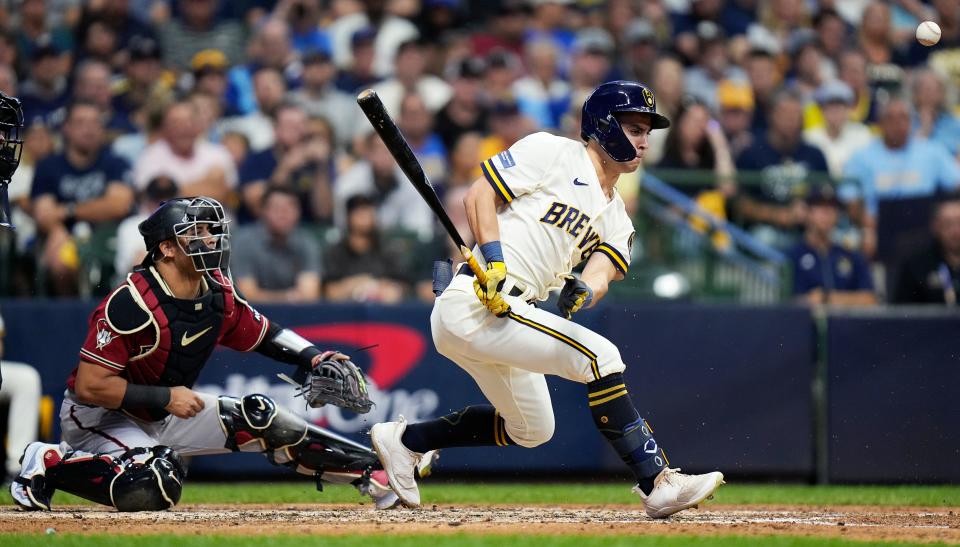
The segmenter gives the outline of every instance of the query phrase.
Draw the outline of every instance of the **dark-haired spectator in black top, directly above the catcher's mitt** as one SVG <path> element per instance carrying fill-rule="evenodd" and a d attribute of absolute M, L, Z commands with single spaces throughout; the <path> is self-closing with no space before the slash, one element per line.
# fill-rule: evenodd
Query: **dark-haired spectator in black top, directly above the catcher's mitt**
<path fill-rule="evenodd" d="M 324 255 L 324 296 L 341 302 L 399 302 L 406 292 L 407 276 L 399 267 L 405 257 L 394 247 L 381 244 L 377 222 L 381 215 L 375 199 L 351 196 L 346 216 L 345 235 Z"/>

